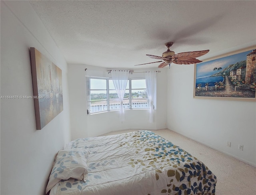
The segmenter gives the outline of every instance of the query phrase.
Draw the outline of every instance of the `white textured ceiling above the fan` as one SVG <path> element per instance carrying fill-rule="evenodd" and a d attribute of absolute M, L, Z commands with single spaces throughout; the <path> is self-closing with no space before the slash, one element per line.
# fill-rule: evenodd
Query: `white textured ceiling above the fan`
<path fill-rule="evenodd" d="M 256 1 L 30 1 L 67 63 L 148 68 L 146 56 L 256 45 Z"/>

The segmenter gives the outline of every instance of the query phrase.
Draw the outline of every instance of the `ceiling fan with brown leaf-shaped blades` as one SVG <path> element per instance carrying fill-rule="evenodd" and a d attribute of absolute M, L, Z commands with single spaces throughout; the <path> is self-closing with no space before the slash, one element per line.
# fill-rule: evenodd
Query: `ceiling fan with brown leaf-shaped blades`
<path fill-rule="evenodd" d="M 162 57 L 156 56 L 156 55 L 147 55 L 148 57 L 154 58 L 154 59 L 161 59 L 162 61 L 157 62 L 163 62 L 161 63 L 158 68 L 166 67 L 173 62 L 175 64 L 194 64 L 202 62 L 199 59 L 196 59 L 196 57 L 200 57 L 206 53 L 208 53 L 210 50 L 203 50 L 203 51 L 188 51 L 188 52 L 182 52 L 175 54 L 174 51 L 170 51 L 170 47 L 172 46 L 173 42 L 167 42 L 164 44 L 165 47 L 168 47 L 167 51 L 165 51 L 162 54 Z M 152 64 L 157 62 L 150 62 L 145 64 Z M 135 66 L 144 65 L 144 64 L 138 64 Z"/>

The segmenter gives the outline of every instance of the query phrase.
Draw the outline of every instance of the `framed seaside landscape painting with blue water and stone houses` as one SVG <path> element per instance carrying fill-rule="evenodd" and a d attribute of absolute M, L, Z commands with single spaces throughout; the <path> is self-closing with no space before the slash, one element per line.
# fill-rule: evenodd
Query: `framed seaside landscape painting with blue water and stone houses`
<path fill-rule="evenodd" d="M 195 65 L 194 98 L 256 101 L 256 49 Z"/>

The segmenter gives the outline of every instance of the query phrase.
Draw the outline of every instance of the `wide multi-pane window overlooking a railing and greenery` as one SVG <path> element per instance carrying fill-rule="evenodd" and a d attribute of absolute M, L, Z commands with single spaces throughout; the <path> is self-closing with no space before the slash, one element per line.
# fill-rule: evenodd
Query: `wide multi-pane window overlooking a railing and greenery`
<path fill-rule="evenodd" d="M 87 113 L 120 110 L 112 79 L 86 77 Z M 124 109 L 149 109 L 145 78 L 128 79 Z"/>

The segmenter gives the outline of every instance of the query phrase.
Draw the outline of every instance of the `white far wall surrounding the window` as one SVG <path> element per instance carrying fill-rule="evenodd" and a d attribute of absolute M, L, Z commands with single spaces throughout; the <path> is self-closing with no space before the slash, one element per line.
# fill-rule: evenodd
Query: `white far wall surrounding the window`
<path fill-rule="evenodd" d="M 99 136 L 117 130 L 158 130 L 167 127 L 167 71 L 157 73 L 157 109 L 154 110 L 153 123 L 148 122 L 149 110 L 125 110 L 123 123 L 119 120 L 118 111 L 87 115 L 85 76 L 110 77 L 107 70 L 89 65 L 68 65 L 72 139 Z M 134 69 L 134 71 L 145 71 L 145 69 Z M 129 77 L 144 77 L 144 74 L 133 73 Z"/>

